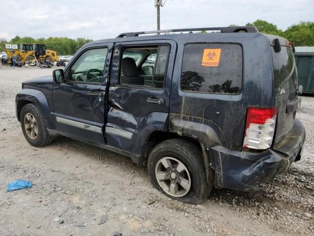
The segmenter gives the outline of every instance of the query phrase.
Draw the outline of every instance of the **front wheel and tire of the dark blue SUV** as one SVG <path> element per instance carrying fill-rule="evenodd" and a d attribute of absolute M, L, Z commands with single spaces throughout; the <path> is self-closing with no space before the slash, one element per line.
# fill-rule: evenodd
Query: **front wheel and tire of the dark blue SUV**
<path fill-rule="evenodd" d="M 33 124 L 36 123 L 36 127 L 37 127 L 37 134 L 36 134 L 36 127 L 35 125 L 33 125 L 33 127 L 31 127 L 32 125 L 30 124 L 31 122 L 29 122 L 29 117 L 32 116 L 35 119 L 35 122 L 33 122 Z M 27 116 L 27 117 L 26 117 Z M 33 121 L 33 120 L 32 120 Z M 28 127 L 26 129 L 26 126 Z M 43 147 L 46 146 L 48 144 L 51 143 L 52 138 L 50 137 L 46 125 L 45 125 L 45 121 L 43 116 L 41 115 L 40 111 L 38 110 L 38 108 L 36 107 L 35 104 L 33 103 L 29 103 L 26 104 L 21 111 L 21 127 L 22 127 L 22 131 L 24 134 L 24 137 L 26 138 L 27 142 L 34 147 Z M 34 128 L 34 133 L 35 135 L 31 135 L 31 130 Z"/>

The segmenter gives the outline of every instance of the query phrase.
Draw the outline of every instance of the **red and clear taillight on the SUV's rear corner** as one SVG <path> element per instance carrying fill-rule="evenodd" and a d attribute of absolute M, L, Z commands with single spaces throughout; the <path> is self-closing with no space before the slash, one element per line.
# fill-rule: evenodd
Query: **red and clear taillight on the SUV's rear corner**
<path fill-rule="evenodd" d="M 278 109 L 249 107 L 243 148 L 267 149 L 273 141 Z"/>

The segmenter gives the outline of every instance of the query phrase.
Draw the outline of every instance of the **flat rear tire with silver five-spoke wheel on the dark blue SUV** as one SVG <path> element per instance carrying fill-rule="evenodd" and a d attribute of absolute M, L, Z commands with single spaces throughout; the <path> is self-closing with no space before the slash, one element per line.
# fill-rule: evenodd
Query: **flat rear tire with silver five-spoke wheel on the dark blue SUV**
<path fill-rule="evenodd" d="M 170 168 L 166 169 L 163 163 L 167 161 L 169 164 L 169 160 L 171 166 L 169 165 Z M 178 167 L 178 170 L 176 167 Z M 207 182 L 201 150 L 185 140 L 169 139 L 158 144 L 149 154 L 147 168 L 154 187 L 166 196 L 180 202 L 200 204 L 209 196 L 212 190 L 213 184 L 210 183 L 209 185 Z M 157 176 L 159 179 L 162 176 L 163 180 L 158 182 Z M 184 178 L 188 181 L 183 182 Z M 184 183 L 185 188 L 179 181 Z M 174 191 L 170 191 L 170 187 L 168 187 L 171 184 L 177 186 L 172 188 L 175 189 Z"/>

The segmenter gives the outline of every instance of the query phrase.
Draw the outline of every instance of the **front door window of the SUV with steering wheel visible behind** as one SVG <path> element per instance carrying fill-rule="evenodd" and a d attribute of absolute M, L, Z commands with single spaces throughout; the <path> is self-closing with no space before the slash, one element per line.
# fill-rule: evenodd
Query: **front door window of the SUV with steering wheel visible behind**
<path fill-rule="evenodd" d="M 102 83 L 107 52 L 107 48 L 84 52 L 71 67 L 70 82 Z"/>

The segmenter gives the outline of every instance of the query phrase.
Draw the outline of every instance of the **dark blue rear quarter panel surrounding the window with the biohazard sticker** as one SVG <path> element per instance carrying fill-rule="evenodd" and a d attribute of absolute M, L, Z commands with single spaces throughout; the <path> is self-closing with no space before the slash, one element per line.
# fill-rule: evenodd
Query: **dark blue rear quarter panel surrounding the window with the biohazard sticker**
<path fill-rule="evenodd" d="M 262 34 L 230 33 L 191 35 L 189 41 L 180 38 L 178 42 L 177 58 L 171 86 L 170 113 L 180 114 L 183 117 L 194 117 L 195 122 L 205 122 L 205 111 L 209 117 L 219 113 L 218 117 L 208 118 L 207 125 L 212 130 L 221 130 L 217 137 L 220 142 L 209 141 L 215 135 L 208 131 L 199 132 L 195 138 L 203 139 L 208 148 L 214 143 L 224 144 L 226 148 L 241 150 L 248 107 L 274 107 L 273 96 L 273 69 L 268 39 Z M 202 92 L 187 92 L 181 88 L 181 72 L 184 59 L 184 47 L 188 43 L 236 43 L 242 45 L 242 88 L 239 94 L 217 94 Z M 210 47 L 210 45 L 209 45 Z M 254 53 L 252 53 L 254 52 Z M 202 55 L 200 55 L 202 57 Z M 194 63 L 192 60 L 190 63 Z M 210 80 L 210 77 L 206 77 Z M 226 78 L 225 80 L 227 80 Z M 215 107 L 216 109 L 210 109 Z M 211 116 L 212 115 L 212 116 Z M 205 118 L 205 119 L 204 119 Z M 171 119 L 170 119 L 171 120 Z M 189 118 L 190 120 L 190 118 Z M 185 122 L 184 120 L 182 122 Z M 170 124 L 171 125 L 171 124 Z M 206 128 L 204 126 L 204 128 Z M 183 133 L 183 132 L 182 132 Z M 204 138 L 204 134 L 208 134 Z M 209 142 L 209 143 L 207 143 Z"/>

